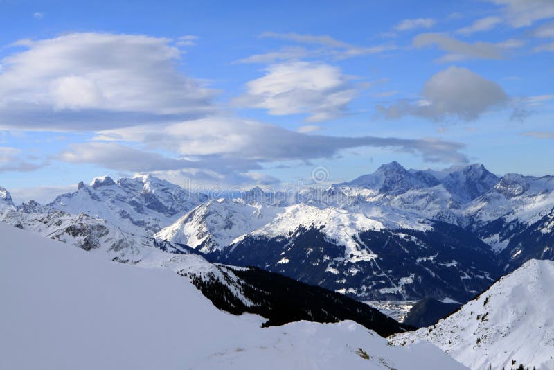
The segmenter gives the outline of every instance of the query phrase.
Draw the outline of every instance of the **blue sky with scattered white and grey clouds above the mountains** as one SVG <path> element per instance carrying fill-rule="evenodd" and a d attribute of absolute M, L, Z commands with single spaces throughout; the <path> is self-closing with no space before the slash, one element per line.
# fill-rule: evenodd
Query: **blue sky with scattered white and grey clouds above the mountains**
<path fill-rule="evenodd" d="M 554 1 L 0 0 L 0 186 L 554 174 Z"/>

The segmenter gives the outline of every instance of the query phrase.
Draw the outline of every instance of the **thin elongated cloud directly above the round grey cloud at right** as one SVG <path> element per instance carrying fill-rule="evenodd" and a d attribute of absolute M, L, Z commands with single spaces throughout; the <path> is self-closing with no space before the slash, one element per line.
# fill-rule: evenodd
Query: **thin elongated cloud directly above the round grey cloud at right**
<path fill-rule="evenodd" d="M 440 62 L 453 62 L 465 58 L 502 58 L 501 48 L 488 42 L 463 42 L 441 33 L 422 33 L 413 39 L 413 46 L 416 48 L 431 45 L 436 45 L 449 53 L 440 58 Z"/>

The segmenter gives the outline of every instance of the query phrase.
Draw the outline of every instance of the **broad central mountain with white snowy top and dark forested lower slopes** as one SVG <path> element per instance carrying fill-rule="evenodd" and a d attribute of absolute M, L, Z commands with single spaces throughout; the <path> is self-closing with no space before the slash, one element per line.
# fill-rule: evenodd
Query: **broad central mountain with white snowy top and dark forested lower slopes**
<path fill-rule="evenodd" d="M 155 236 L 360 300 L 465 301 L 498 274 L 494 254 L 467 231 L 384 206 L 213 200 Z"/>

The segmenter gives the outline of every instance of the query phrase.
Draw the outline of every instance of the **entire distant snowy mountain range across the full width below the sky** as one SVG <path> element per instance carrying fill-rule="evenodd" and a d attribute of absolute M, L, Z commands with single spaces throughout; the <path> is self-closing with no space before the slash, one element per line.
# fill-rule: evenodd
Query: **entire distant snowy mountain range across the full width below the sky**
<path fill-rule="evenodd" d="M 497 177 L 481 164 L 392 162 L 351 182 L 294 194 L 253 188 L 235 199 L 151 175 L 98 177 L 44 206 L 15 206 L 3 189 L 0 202 L 6 222 L 85 249 L 103 245 L 123 261 L 144 259 L 116 256 L 125 249 L 117 245 L 156 243 L 361 301 L 464 303 L 530 258 L 554 258 L 554 177 Z"/>

